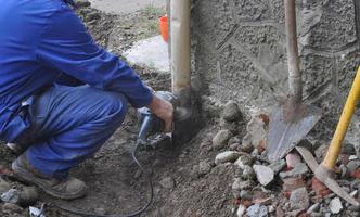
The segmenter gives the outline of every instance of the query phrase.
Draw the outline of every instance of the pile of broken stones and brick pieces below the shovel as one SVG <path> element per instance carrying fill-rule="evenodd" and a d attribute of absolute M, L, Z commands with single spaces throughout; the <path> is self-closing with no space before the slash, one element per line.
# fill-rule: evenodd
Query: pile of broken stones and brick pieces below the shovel
<path fill-rule="evenodd" d="M 237 129 L 240 119 L 242 114 L 237 104 L 227 103 L 222 110 L 221 129 L 213 138 L 213 150 L 218 152 L 215 165 L 231 164 L 234 170 L 235 216 L 360 216 L 357 207 L 314 178 L 296 151 L 275 163 L 267 159 L 267 115 L 254 115 L 242 140 Z M 326 141 L 307 143 L 313 143 L 314 155 L 321 162 L 329 146 Z M 340 156 L 334 179 L 359 200 L 360 158 L 351 144 L 345 144 Z M 204 168 L 208 170 L 205 165 Z"/>

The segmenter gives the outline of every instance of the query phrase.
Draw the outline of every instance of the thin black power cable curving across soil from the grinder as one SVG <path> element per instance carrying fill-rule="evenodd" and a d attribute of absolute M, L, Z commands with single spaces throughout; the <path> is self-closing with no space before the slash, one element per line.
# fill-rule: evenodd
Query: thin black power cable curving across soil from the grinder
<path fill-rule="evenodd" d="M 145 206 L 143 206 L 141 209 L 139 209 L 137 212 L 133 212 L 133 213 L 130 213 L 130 214 L 126 214 L 126 215 L 120 215 L 120 214 L 97 215 L 97 214 L 87 213 L 87 212 L 83 212 L 81 209 L 77 209 L 77 208 L 73 208 L 73 207 L 64 206 L 64 205 L 60 205 L 60 204 L 52 204 L 52 205 L 60 208 L 60 209 L 62 209 L 62 210 L 65 210 L 67 213 L 72 213 L 72 214 L 76 214 L 76 215 L 85 216 L 85 217 L 136 217 L 136 216 L 140 216 L 142 213 L 144 213 L 149 208 L 149 206 L 152 204 L 153 199 L 154 199 L 154 188 L 153 188 L 153 181 L 151 179 L 151 176 L 146 173 L 146 170 L 143 168 L 143 166 L 140 164 L 140 162 L 137 158 L 137 153 L 140 149 L 141 144 L 142 144 L 141 141 L 138 140 L 137 143 L 136 143 L 136 148 L 133 149 L 132 154 L 131 154 L 132 159 L 134 161 L 134 163 L 138 165 L 140 170 L 146 176 L 147 181 L 149 181 L 149 186 L 150 186 L 150 189 L 151 189 L 150 200 L 149 200 L 147 204 Z"/>

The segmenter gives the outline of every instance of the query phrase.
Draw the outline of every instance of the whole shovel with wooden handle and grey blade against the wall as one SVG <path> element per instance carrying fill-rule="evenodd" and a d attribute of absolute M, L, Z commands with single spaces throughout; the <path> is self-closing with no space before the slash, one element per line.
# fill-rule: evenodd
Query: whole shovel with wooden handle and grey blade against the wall
<path fill-rule="evenodd" d="M 283 158 L 312 129 L 321 110 L 303 103 L 303 82 L 296 34 L 295 0 L 284 0 L 290 97 L 270 115 L 267 154 L 271 162 Z"/>

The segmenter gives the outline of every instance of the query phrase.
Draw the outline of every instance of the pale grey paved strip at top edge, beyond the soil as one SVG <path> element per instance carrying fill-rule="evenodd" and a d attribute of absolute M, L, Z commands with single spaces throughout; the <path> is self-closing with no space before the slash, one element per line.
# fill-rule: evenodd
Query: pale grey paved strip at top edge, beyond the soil
<path fill-rule="evenodd" d="M 149 5 L 165 7 L 166 0 L 90 0 L 91 5 L 107 13 L 132 13 Z"/>

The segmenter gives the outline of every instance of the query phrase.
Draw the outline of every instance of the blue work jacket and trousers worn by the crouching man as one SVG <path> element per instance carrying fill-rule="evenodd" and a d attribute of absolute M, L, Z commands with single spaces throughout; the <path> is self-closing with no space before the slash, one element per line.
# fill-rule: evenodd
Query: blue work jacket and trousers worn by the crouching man
<path fill-rule="evenodd" d="M 142 107 L 151 100 L 67 1 L 1 1 L 0 140 L 31 142 L 25 156 L 36 170 L 67 177 L 120 126 L 128 102 Z"/>

